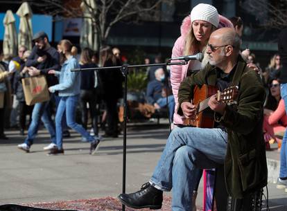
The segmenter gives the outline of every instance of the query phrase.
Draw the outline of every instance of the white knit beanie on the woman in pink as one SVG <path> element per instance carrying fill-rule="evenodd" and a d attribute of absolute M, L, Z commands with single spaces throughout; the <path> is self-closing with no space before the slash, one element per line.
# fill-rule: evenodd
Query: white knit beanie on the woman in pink
<path fill-rule="evenodd" d="M 199 3 L 191 10 L 191 23 L 193 21 L 202 20 L 218 27 L 219 17 L 214 6 L 207 3 Z"/>

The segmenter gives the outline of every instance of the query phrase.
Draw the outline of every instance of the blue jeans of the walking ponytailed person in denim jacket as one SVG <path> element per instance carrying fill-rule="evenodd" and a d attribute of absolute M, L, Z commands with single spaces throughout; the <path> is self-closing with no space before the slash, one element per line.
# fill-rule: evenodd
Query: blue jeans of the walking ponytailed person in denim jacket
<path fill-rule="evenodd" d="M 93 142 L 95 139 L 93 136 L 90 136 L 89 133 L 81 126 L 76 123 L 76 107 L 78 104 L 79 95 L 61 97 L 58 104 L 57 113 L 55 116 L 55 127 L 56 127 L 56 140 L 58 149 L 62 149 L 63 140 L 62 140 L 62 120 L 64 113 L 66 111 L 66 120 L 68 127 L 74 129 L 79 134 L 84 136 L 88 142 Z"/>

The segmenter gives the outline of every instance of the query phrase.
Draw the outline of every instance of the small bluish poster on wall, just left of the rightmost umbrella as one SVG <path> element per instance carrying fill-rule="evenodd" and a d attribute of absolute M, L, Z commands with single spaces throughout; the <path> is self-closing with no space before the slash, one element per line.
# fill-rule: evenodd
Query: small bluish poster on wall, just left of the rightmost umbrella
<path fill-rule="evenodd" d="M 82 19 L 80 18 L 64 19 L 63 36 L 80 36 L 81 27 Z"/>

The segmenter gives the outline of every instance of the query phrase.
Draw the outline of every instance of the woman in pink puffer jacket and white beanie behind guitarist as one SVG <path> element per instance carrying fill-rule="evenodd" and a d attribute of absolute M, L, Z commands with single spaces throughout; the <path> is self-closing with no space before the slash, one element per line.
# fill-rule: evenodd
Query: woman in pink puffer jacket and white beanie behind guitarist
<path fill-rule="evenodd" d="M 227 18 L 218 15 L 214 6 L 206 3 L 198 4 L 191 10 L 191 15 L 182 22 L 180 27 L 181 36 L 177 38 L 173 46 L 172 57 L 194 55 L 199 52 L 205 53 L 210 34 L 221 27 L 233 28 L 233 25 Z M 186 65 L 171 66 L 171 86 L 175 97 L 175 113 L 173 115 L 175 125 L 182 125 L 184 120 L 183 116 L 177 114 L 177 93 L 180 83 L 191 72 L 199 71 L 205 64 L 207 64 L 207 57 L 204 57 L 202 62 L 191 60 Z"/>

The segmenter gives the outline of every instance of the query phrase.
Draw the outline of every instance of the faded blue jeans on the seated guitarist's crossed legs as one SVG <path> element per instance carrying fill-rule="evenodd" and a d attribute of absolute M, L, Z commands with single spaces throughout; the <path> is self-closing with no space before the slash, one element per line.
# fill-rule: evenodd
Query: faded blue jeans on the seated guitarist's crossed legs
<path fill-rule="evenodd" d="M 227 133 L 222 129 L 175 127 L 168 136 L 150 183 L 163 191 L 173 188 L 173 211 L 192 210 L 198 169 L 222 165 L 226 150 Z"/>

